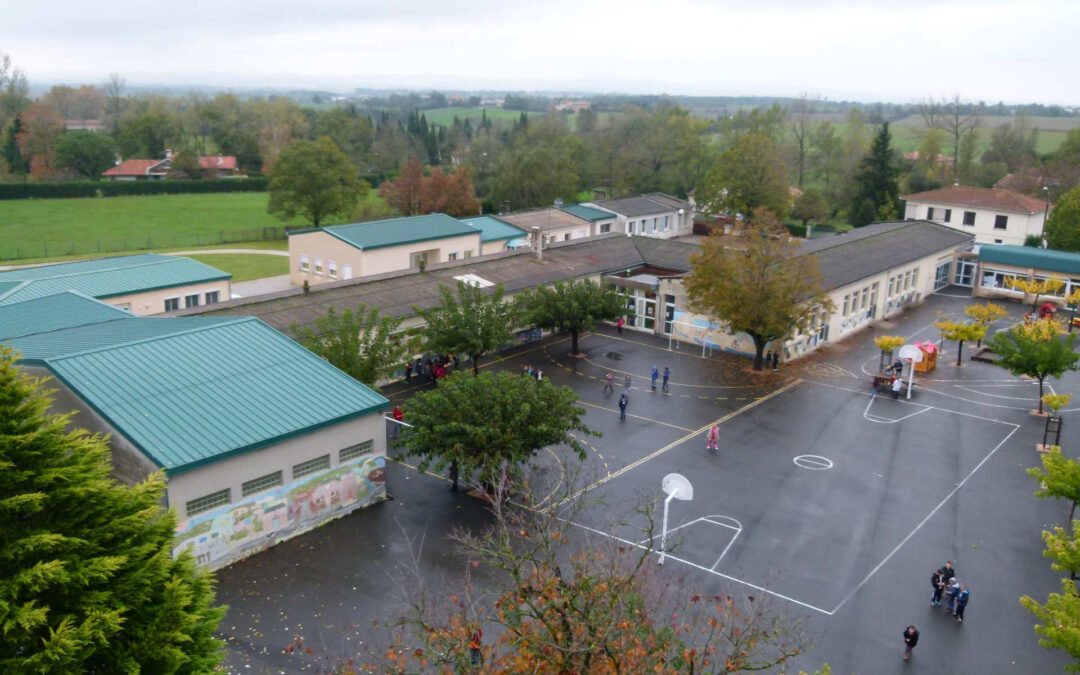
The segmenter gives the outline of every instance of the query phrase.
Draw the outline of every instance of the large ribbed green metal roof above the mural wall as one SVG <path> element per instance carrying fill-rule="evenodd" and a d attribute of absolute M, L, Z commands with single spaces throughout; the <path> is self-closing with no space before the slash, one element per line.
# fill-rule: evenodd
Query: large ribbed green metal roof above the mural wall
<path fill-rule="evenodd" d="M 120 319 L 11 343 L 171 474 L 388 405 L 253 318 Z"/>

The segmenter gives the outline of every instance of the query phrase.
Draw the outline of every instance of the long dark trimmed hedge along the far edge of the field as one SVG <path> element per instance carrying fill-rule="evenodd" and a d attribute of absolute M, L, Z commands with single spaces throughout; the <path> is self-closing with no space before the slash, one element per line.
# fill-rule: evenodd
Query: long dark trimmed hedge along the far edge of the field
<path fill-rule="evenodd" d="M 0 200 L 124 197 L 129 194 L 205 194 L 207 192 L 266 192 L 266 178 L 203 180 L 77 180 L 72 183 L 0 183 Z"/>

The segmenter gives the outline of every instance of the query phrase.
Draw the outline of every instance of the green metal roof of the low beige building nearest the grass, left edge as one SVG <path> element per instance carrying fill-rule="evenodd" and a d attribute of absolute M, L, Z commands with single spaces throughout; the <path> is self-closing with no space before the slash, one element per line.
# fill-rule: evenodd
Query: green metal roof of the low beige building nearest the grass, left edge
<path fill-rule="evenodd" d="M 18 283 L 17 286 L 9 286 L 6 291 L 0 289 L 0 305 L 22 302 L 65 291 L 76 291 L 94 298 L 109 298 L 231 278 L 232 274 L 179 256 L 144 254 L 78 260 L 0 272 L 0 284 Z"/>

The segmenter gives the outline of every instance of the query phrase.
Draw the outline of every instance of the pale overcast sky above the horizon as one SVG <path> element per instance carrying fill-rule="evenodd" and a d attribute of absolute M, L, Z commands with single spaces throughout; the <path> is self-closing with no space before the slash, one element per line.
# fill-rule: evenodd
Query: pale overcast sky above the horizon
<path fill-rule="evenodd" d="M 1080 0 L 12 0 L 32 84 L 1080 104 Z"/>

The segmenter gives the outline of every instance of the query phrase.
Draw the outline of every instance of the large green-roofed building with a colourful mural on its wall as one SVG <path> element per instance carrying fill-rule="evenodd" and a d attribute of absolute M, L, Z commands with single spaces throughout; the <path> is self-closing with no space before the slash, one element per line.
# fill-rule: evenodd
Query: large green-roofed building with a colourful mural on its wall
<path fill-rule="evenodd" d="M 220 567 L 386 498 L 386 399 L 257 319 L 136 318 L 77 293 L 0 306 L 53 409 L 161 471 L 174 552 Z"/>

